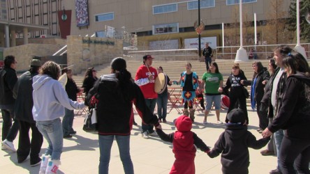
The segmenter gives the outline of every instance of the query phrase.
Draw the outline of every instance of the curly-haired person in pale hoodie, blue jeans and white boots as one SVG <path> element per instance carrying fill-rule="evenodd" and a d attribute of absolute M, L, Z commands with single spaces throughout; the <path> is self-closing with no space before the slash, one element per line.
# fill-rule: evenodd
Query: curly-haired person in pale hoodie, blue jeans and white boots
<path fill-rule="evenodd" d="M 82 109 L 84 103 L 72 101 L 66 90 L 57 80 L 60 67 L 53 61 L 42 65 L 38 75 L 33 79 L 34 107 L 32 113 L 36 120 L 36 127 L 48 143 L 39 173 L 57 173 L 60 165 L 60 155 L 63 148 L 63 132 L 61 117 L 67 109 Z"/>

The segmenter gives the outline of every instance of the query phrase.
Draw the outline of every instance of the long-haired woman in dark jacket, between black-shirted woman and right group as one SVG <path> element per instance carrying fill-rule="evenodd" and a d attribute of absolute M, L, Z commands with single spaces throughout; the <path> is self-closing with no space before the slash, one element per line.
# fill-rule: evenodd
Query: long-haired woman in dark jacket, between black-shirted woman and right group
<path fill-rule="evenodd" d="M 242 80 L 241 84 L 244 86 L 251 85 L 251 107 L 256 109 L 256 113 L 259 118 L 259 127 L 258 132 L 262 133 L 268 125 L 268 118 L 260 114 L 260 100 L 262 100 L 264 95 L 265 84 L 263 81 L 268 81 L 270 79 L 270 74 L 267 68 L 263 67 L 263 64 L 260 61 L 254 62 L 252 64 L 254 71 L 252 80 Z"/>

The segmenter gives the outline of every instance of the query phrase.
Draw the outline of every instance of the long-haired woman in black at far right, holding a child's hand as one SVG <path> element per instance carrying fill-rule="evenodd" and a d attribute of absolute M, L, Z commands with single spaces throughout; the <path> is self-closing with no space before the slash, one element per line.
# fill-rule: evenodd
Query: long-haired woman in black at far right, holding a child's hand
<path fill-rule="evenodd" d="M 279 129 L 284 132 L 279 152 L 281 173 L 310 173 L 310 68 L 298 52 L 283 58 L 287 79 L 281 95 L 278 113 L 263 136 L 271 136 Z"/>

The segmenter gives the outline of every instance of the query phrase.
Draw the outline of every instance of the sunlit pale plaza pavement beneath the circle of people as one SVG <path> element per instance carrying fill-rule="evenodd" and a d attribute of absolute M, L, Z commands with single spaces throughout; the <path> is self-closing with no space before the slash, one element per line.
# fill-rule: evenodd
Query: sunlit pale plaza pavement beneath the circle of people
<path fill-rule="evenodd" d="M 249 111 L 249 131 L 260 139 L 262 136 L 256 132 L 258 128 L 258 116 L 256 111 L 248 108 Z M 169 110 L 169 107 L 168 107 Z M 209 114 L 207 125 L 202 124 L 204 114 L 200 111 L 195 112 L 195 122 L 193 123 L 192 131 L 198 134 L 207 145 L 213 147 L 214 143 L 223 132 L 224 125 L 217 125 L 215 111 Z M 173 120 L 180 114 L 175 109 L 167 116 L 167 123 L 162 123 L 163 131 L 166 133 L 174 132 L 175 126 Z M 226 110 L 221 111 L 221 120 L 224 120 Z M 58 173 L 98 173 L 99 164 L 99 148 L 98 135 L 90 134 L 82 130 L 84 116 L 75 116 L 73 123 L 77 134 L 72 139 L 64 139 L 64 149 L 61 154 L 61 166 Z M 135 121 L 141 125 L 141 119 L 135 115 Z M 0 126 L 2 126 L 2 119 Z M 143 139 L 140 134 L 141 127 L 133 126 L 131 132 L 131 158 L 135 173 L 169 173 L 170 168 L 175 160 L 172 153 L 172 144 L 163 142 L 158 137 L 150 137 Z M 15 148 L 18 145 L 18 136 L 14 141 Z M 46 141 L 43 142 L 41 154 L 47 147 Z M 262 148 L 262 150 L 265 148 Z M 250 166 L 249 173 L 269 173 L 276 167 L 276 157 L 262 156 L 260 150 L 249 149 Z M 38 173 L 40 166 L 31 167 L 30 161 L 24 161 L 22 164 L 17 164 L 16 153 L 8 150 L 0 150 L 0 168 L 1 173 Z M 214 159 L 209 158 L 205 152 L 197 150 L 195 157 L 196 173 L 221 173 L 221 157 Z M 110 173 L 124 173 L 117 143 L 113 143 Z"/>

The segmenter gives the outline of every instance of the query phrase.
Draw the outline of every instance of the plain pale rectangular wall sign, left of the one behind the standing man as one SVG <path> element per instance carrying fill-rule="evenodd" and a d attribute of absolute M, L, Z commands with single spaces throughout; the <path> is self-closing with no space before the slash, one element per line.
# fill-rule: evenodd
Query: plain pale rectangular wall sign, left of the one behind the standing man
<path fill-rule="evenodd" d="M 179 49 L 179 40 L 158 40 L 149 42 L 149 49 Z"/>

